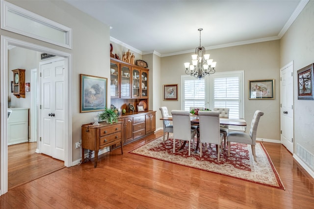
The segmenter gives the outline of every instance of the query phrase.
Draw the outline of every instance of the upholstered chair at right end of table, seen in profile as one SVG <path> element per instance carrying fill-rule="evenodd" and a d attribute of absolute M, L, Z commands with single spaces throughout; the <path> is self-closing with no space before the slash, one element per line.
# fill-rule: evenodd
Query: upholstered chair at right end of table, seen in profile
<path fill-rule="evenodd" d="M 230 157 L 231 142 L 237 142 L 237 143 L 242 143 L 242 144 L 250 144 L 254 161 L 256 161 L 256 154 L 255 154 L 256 133 L 257 133 L 257 127 L 259 125 L 260 118 L 263 114 L 264 113 L 261 110 L 255 111 L 253 120 L 251 122 L 250 133 L 233 131 L 227 134 L 228 157 Z"/>

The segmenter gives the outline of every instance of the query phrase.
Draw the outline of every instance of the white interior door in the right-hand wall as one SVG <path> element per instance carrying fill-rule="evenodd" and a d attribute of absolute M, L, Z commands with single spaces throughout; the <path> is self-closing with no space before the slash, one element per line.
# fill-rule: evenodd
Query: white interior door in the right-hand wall
<path fill-rule="evenodd" d="M 293 62 L 280 69 L 281 143 L 293 154 Z"/>

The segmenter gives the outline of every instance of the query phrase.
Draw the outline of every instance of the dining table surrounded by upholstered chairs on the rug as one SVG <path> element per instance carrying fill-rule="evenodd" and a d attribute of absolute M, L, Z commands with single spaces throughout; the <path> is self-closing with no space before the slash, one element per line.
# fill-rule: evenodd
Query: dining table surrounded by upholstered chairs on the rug
<path fill-rule="evenodd" d="M 199 146 L 199 142 L 200 142 L 200 129 L 199 129 L 199 125 L 200 125 L 200 119 L 198 118 L 198 116 L 191 116 L 191 125 L 197 125 L 197 143 L 196 143 L 196 149 L 195 149 L 195 153 L 198 150 L 198 146 Z M 168 120 L 168 121 L 172 121 L 173 118 L 171 115 L 169 115 L 168 117 L 162 117 L 160 118 L 160 120 Z M 228 126 L 242 126 L 245 127 L 246 129 L 246 121 L 243 118 L 224 118 L 224 117 L 220 117 L 219 118 L 219 123 L 220 125 L 228 125 Z M 185 146 L 186 141 L 183 142 L 183 145 L 180 147 L 179 150 L 182 150 L 183 147 Z"/>

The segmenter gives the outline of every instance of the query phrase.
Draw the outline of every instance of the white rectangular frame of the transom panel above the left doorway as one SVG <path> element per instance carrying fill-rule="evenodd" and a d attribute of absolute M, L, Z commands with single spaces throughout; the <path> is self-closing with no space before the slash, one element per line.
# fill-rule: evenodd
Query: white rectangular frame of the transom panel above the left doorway
<path fill-rule="evenodd" d="M 65 43 L 58 42 L 56 40 L 52 40 L 49 37 L 44 37 L 41 35 L 38 35 L 36 33 L 31 33 L 28 31 L 25 31 L 21 28 L 15 28 L 13 26 L 8 25 L 8 12 L 13 12 L 15 14 L 20 15 L 21 17 L 32 20 L 34 23 L 38 23 L 40 25 L 48 26 L 54 30 L 58 30 L 64 33 L 65 36 Z M 26 9 L 23 9 L 19 6 L 16 6 L 12 3 L 9 3 L 5 0 L 1 0 L 1 29 L 8 30 L 14 33 L 18 33 L 21 35 L 25 35 L 31 38 L 35 38 L 41 41 L 45 41 L 54 45 L 58 45 L 61 47 L 65 47 L 68 49 L 72 49 L 72 29 L 67 26 L 63 26 L 59 23 L 56 23 L 52 20 L 49 20 L 45 17 L 42 17 L 40 15 L 37 15 L 33 12 L 30 12 Z"/>

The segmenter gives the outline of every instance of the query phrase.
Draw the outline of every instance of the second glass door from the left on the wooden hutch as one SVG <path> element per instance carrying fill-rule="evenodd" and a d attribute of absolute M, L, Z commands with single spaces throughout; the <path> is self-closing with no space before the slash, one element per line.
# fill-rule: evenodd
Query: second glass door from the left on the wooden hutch
<path fill-rule="evenodd" d="M 120 85 L 120 97 L 131 98 L 131 67 L 125 64 L 120 64 L 121 72 L 121 85 Z"/>

